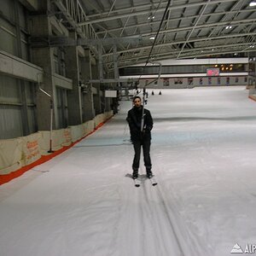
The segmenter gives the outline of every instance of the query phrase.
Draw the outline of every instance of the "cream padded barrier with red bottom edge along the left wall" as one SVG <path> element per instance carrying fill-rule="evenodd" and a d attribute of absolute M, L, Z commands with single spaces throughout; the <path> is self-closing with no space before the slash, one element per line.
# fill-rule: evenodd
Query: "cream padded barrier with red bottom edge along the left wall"
<path fill-rule="evenodd" d="M 103 125 L 113 116 L 113 111 L 101 113 L 82 125 L 52 131 L 52 150 L 49 154 L 49 131 L 38 131 L 26 137 L 0 140 L 0 185 L 7 183 L 33 166 L 42 164 L 57 154 L 71 148 L 84 137 Z"/>

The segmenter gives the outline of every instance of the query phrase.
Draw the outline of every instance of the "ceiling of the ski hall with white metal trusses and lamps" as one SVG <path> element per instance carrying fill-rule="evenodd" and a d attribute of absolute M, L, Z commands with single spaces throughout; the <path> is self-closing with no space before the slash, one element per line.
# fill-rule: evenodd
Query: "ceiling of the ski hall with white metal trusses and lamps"
<path fill-rule="evenodd" d="M 84 18 L 78 26 L 90 26 L 96 39 L 116 38 L 116 49 L 102 44 L 109 68 L 114 51 L 119 67 L 173 58 L 255 56 L 256 6 L 250 3 L 256 0 L 79 1 Z"/>

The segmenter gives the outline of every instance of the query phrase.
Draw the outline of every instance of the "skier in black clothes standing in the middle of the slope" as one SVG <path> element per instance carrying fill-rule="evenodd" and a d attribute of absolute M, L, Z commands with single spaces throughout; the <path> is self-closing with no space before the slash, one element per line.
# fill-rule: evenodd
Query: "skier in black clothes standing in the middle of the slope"
<path fill-rule="evenodd" d="M 134 148 L 134 159 L 132 163 L 132 177 L 136 179 L 138 177 L 138 168 L 140 165 L 141 147 L 143 146 L 144 165 L 146 167 L 147 177 L 152 177 L 151 172 L 151 159 L 150 159 L 150 144 L 151 144 L 151 130 L 153 128 L 153 119 L 148 109 L 144 108 L 144 124 L 143 129 L 143 105 L 140 96 L 133 98 L 133 108 L 128 111 L 126 118 L 131 133 L 131 142 Z"/>

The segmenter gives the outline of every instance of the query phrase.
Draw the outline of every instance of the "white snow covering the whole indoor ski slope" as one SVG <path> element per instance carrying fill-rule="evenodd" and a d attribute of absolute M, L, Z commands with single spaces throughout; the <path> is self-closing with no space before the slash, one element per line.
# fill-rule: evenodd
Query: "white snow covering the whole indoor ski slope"
<path fill-rule="evenodd" d="M 256 102 L 244 87 L 158 92 L 146 107 L 158 185 L 129 177 L 121 102 L 90 137 L 0 187 L 1 256 L 226 256 L 256 243 Z"/>

